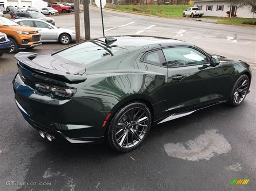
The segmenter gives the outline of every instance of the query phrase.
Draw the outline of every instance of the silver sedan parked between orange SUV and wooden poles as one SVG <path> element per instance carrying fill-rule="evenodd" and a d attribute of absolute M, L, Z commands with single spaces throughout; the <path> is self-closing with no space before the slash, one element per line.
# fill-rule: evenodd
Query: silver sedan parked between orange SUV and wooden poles
<path fill-rule="evenodd" d="M 76 32 L 70 29 L 61 29 L 53 26 L 43 20 L 38 19 L 16 19 L 16 23 L 23 26 L 31 26 L 39 31 L 42 41 L 59 41 L 59 43 L 68 45 L 76 40 Z"/>

